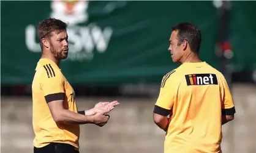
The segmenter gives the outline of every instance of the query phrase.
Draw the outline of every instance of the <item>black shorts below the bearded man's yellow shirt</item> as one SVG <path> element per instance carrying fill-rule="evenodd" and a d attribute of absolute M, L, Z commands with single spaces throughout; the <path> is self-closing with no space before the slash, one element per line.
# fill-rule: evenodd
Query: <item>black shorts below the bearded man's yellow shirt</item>
<path fill-rule="evenodd" d="M 79 151 L 70 144 L 50 143 L 42 148 L 34 147 L 34 153 L 79 153 Z"/>

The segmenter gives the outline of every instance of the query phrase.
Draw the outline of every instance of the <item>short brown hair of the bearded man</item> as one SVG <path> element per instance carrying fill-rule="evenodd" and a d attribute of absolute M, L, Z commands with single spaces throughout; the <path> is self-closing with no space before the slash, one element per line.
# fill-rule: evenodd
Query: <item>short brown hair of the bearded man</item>
<path fill-rule="evenodd" d="M 60 32 L 61 30 L 67 30 L 67 23 L 55 18 L 47 18 L 43 20 L 37 26 L 37 33 L 39 37 L 40 47 L 42 48 L 42 38 L 50 38 L 51 32 Z"/>

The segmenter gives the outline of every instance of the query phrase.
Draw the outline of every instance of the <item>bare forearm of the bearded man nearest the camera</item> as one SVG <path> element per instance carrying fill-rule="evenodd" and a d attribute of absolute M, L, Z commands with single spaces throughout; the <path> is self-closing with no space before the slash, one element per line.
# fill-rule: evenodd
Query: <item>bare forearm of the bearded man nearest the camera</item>
<path fill-rule="evenodd" d="M 92 124 L 94 123 L 94 116 L 82 115 L 80 113 L 75 113 L 70 110 L 63 109 L 58 115 L 56 122 L 61 122 L 65 124 Z"/>

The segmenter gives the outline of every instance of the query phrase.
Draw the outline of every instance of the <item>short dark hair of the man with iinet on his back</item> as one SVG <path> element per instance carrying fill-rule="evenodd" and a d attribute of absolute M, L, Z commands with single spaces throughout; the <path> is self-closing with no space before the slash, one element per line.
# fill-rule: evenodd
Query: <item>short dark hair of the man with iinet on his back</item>
<path fill-rule="evenodd" d="M 201 44 L 201 32 L 197 26 L 191 23 L 179 23 L 171 28 L 173 31 L 178 30 L 178 46 L 186 40 L 191 50 L 198 54 Z"/>

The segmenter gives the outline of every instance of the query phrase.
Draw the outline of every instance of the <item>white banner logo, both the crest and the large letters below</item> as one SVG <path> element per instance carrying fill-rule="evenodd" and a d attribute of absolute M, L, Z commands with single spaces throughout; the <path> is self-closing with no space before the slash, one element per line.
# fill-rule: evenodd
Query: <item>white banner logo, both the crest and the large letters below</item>
<path fill-rule="evenodd" d="M 69 55 L 67 60 L 90 61 L 93 51 L 104 53 L 113 34 L 111 27 L 99 27 L 96 23 L 87 23 L 88 26 L 78 26 L 88 22 L 87 12 L 89 1 L 51 1 L 50 17 L 69 23 Z M 26 46 L 31 52 L 41 52 L 38 43 L 36 26 L 28 25 L 25 30 Z"/>

